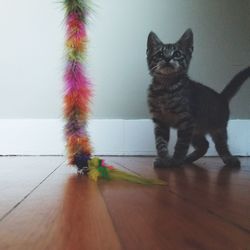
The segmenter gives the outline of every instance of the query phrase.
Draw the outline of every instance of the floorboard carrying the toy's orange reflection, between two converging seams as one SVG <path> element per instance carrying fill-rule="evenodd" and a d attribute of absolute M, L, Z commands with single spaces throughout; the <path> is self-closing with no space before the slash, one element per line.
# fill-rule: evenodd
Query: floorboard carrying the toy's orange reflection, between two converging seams
<path fill-rule="evenodd" d="M 63 166 L 0 224 L 0 249 L 121 249 L 96 183 Z"/>

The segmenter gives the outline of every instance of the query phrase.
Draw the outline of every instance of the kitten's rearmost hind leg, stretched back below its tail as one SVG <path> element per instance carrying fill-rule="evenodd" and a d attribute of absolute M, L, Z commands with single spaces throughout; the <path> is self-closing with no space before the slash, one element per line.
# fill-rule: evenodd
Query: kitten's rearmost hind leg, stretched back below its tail
<path fill-rule="evenodd" d="M 239 159 L 230 153 L 227 145 L 227 129 L 222 128 L 212 131 L 211 136 L 214 141 L 215 148 L 226 166 L 239 168 Z"/>

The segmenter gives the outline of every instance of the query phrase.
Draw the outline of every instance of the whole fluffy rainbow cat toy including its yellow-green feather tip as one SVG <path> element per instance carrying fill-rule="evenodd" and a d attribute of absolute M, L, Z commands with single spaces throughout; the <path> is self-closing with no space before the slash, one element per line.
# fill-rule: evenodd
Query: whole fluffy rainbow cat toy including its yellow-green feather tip
<path fill-rule="evenodd" d="M 64 0 L 66 10 L 66 49 L 64 117 L 68 164 L 77 166 L 78 172 L 90 179 L 123 179 L 140 184 L 159 184 L 139 175 L 128 174 L 92 156 L 92 148 L 86 131 L 89 102 L 92 96 L 90 81 L 87 79 L 83 61 L 87 47 L 86 16 L 89 11 L 87 0 Z"/>

